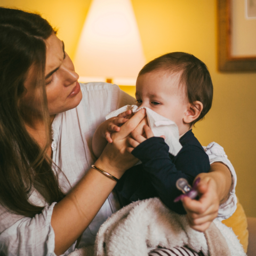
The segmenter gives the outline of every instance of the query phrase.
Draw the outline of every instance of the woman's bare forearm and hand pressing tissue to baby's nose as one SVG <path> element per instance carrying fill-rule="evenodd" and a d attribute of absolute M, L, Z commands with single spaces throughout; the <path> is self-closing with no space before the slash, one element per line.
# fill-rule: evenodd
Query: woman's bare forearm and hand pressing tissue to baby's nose
<path fill-rule="evenodd" d="M 138 159 L 126 150 L 127 137 L 134 129 L 142 133 L 145 116 L 146 110 L 141 109 L 122 125 L 119 132 L 111 134 L 113 142 L 107 144 L 95 165 L 119 179 L 137 163 Z M 68 195 L 55 204 L 51 219 L 55 254 L 63 254 L 83 233 L 115 186 L 115 180 L 91 168 Z"/>

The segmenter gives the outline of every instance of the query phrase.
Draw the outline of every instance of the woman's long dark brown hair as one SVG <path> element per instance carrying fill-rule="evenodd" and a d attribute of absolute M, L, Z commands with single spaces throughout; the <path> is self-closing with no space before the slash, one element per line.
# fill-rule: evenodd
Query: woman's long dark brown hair
<path fill-rule="evenodd" d="M 9 211 L 33 217 L 43 207 L 28 198 L 36 188 L 46 202 L 59 202 L 63 193 L 52 170 L 46 148 L 51 142 L 50 115 L 45 92 L 46 46 L 54 33 L 40 15 L 0 7 L 0 203 Z M 21 101 L 24 82 L 33 66 L 37 106 L 46 127 L 47 145 L 42 149 L 25 127 Z M 31 116 L 33 118 L 33 116 Z"/>

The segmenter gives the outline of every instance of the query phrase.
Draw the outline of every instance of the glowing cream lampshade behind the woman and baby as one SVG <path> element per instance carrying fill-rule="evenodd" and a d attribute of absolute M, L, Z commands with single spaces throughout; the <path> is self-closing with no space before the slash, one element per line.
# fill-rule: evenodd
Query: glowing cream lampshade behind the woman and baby
<path fill-rule="evenodd" d="M 145 57 L 130 0 L 92 1 L 74 63 L 81 82 L 135 85 Z"/>

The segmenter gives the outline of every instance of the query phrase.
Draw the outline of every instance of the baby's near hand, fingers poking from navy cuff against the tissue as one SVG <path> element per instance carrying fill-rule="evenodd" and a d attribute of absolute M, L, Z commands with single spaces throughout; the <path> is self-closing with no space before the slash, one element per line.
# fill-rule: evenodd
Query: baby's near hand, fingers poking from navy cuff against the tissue
<path fill-rule="evenodd" d="M 131 147 L 127 147 L 127 151 L 129 151 L 130 153 L 135 147 L 139 146 L 140 143 L 142 143 L 146 139 L 154 137 L 154 133 L 152 132 L 148 125 L 145 124 L 143 126 L 143 130 L 145 131 L 145 137 L 143 136 L 144 134 L 140 135 L 137 131 L 134 130 L 133 132 L 131 132 L 132 138 L 130 137 L 127 139 L 131 145 Z M 164 135 L 161 137 L 165 139 Z"/>

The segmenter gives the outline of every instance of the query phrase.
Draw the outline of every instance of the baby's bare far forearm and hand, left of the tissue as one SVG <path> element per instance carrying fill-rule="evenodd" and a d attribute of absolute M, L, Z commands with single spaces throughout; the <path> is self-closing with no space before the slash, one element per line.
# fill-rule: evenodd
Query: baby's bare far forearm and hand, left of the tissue
<path fill-rule="evenodd" d="M 101 155 L 107 143 L 113 142 L 111 139 L 111 133 L 119 132 L 119 126 L 129 120 L 128 117 L 131 115 L 131 113 L 131 110 L 127 110 L 116 117 L 109 118 L 99 125 L 92 138 L 92 150 L 97 158 Z"/>

